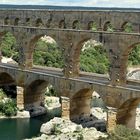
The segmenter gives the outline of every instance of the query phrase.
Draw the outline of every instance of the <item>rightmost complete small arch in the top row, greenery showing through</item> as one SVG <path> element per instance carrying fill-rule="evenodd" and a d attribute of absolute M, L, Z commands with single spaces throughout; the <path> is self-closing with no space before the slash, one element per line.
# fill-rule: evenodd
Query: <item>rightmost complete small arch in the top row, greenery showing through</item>
<path fill-rule="evenodd" d="M 133 31 L 132 24 L 130 22 L 124 22 L 121 26 L 123 32 L 131 33 Z"/>

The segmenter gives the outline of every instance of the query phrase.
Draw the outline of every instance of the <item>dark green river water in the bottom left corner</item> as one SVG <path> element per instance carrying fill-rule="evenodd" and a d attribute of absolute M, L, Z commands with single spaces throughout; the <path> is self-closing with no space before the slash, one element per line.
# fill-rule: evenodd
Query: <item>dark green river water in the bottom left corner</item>
<path fill-rule="evenodd" d="M 43 115 L 29 119 L 0 119 L 0 140 L 23 140 L 39 135 L 43 123 L 53 118 Z"/>

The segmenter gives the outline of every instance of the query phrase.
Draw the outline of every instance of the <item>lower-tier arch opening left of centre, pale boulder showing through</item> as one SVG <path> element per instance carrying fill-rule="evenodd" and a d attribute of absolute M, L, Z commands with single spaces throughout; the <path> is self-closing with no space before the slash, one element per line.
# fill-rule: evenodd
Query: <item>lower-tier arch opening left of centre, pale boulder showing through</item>
<path fill-rule="evenodd" d="M 61 116 L 59 92 L 45 80 L 35 80 L 26 88 L 25 109 L 30 116 L 50 114 Z"/>

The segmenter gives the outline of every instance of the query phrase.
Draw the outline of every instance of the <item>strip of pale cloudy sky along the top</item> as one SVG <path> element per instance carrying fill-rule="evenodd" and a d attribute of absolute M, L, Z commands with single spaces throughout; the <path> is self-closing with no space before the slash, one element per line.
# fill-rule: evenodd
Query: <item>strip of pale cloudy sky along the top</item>
<path fill-rule="evenodd" d="M 0 4 L 140 8 L 140 0 L 0 0 Z"/>

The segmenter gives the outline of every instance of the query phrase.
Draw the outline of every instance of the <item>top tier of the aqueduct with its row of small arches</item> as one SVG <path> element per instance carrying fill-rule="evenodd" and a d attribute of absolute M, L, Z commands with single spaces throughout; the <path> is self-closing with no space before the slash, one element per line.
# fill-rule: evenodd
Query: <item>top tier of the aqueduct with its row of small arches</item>
<path fill-rule="evenodd" d="M 129 26 L 131 32 L 140 32 L 139 15 L 126 11 L 0 10 L 0 24 L 120 32 Z"/>

